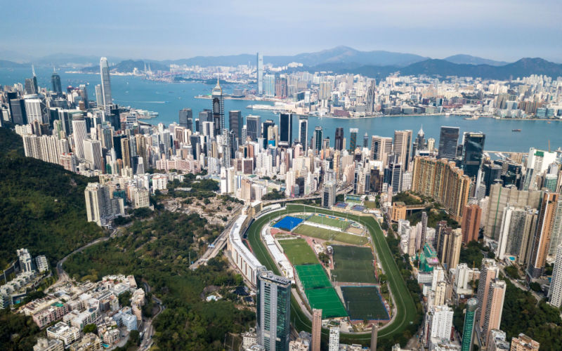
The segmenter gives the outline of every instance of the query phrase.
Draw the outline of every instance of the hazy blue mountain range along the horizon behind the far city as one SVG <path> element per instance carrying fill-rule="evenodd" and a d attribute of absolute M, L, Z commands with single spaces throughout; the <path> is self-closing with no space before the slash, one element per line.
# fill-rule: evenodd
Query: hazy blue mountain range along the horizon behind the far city
<path fill-rule="evenodd" d="M 4 55 L 5 53 L 5 51 L 0 51 L 0 58 L 13 57 L 14 55 L 13 52 L 9 52 L 10 55 Z M 114 72 L 132 72 L 135 67 L 143 70 L 145 64 L 150 64 L 152 71 L 169 69 L 168 67 L 171 64 L 200 65 L 202 67 L 255 65 L 256 55 L 195 56 L 193 58 L 161 61 L 108 59 L 110 62 L 118 62 L 111 67 Z M 99 70 L 99 58 L 94 56 L 54 54 L 32 59 L 31 62 L 38 66 L 66 65 L 79 67 L 83 72 L 98 72 Z M 264 56 L 263 62 L 275 66 L 300 62 L 303 67 L 298 67 L 296 70 L 363 74 L 378 79 L 395 72 L 403 75 L 426 74 L 443 77 L 481 77 L 483 79 L 509 79 L 510 77 L 525 77 L 530 74 L 546 74 L 553 78 L 562 76 L 562 65 L 542 58 L 522 58 L 511 63 L 471 55 L 452 55 L 443 59 L 434 59 L 412 53 L 358 51 L 348 46 L 337 46 L 314 53 Z M 0 60 L 0 67 L 29 67 L 30 63 Z"/>

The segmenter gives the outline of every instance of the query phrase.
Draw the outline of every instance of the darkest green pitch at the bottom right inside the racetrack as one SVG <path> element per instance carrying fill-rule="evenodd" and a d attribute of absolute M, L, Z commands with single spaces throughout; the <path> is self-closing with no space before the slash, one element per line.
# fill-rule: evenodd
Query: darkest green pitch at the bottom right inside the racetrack
<path fill-rule="evenodd" d="M 350 319 L 389 319 L 379 289 L 375 286 L 342 286 L 341 293 L 344 295 Z"/>

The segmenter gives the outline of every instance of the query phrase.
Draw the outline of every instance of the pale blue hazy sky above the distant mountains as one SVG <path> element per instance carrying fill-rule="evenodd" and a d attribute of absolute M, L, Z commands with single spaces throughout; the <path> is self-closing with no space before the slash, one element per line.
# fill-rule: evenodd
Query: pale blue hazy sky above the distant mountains
<path fill-rule="evenodd" d="M 560 0 L 5 1 L 2 53 L 155 60 L 345 45 L 562 62 Z M 7 54 L 6 54 L 7 55 Z"/>

